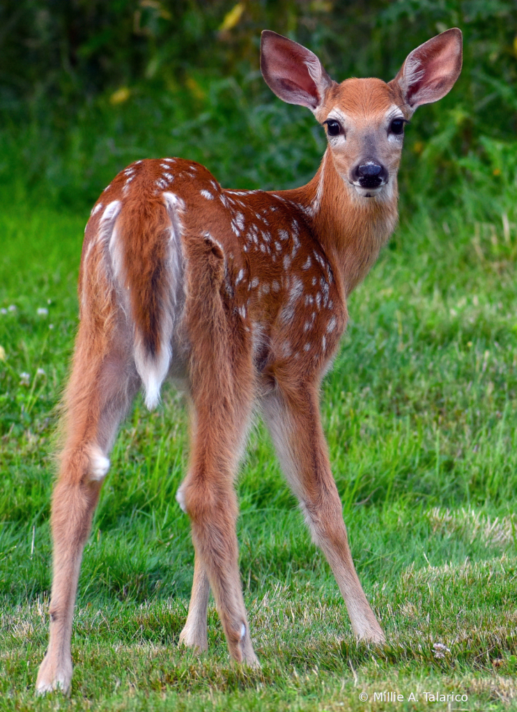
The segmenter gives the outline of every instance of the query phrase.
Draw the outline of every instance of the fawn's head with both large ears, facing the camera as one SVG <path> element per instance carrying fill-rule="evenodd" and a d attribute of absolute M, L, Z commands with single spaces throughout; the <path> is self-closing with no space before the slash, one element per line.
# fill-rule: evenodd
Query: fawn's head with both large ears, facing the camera
<path fill-rule="evenodd" d="M 388 199 L 404 124 L 419 105 L 445 96 L 459 76 L 461 31 L 447 30 L 414 49 L 389 83 L 347 79 L 338 84 L 313 52 L 264 30 L 261 70 L 278 98 L 307 106 L 325 125 L 335 169 L 352 196 Z"/>

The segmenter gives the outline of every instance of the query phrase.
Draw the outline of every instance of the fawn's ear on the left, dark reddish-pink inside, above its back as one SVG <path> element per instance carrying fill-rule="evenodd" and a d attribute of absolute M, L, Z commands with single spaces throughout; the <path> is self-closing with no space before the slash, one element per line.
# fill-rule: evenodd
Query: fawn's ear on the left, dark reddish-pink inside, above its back
<path fill-rule="evenodd" d="M 261 37 L 261 72 L 278 98 L 312 111 L 333 84 L 313 52 L 271 30 L 264 30 Z"/>

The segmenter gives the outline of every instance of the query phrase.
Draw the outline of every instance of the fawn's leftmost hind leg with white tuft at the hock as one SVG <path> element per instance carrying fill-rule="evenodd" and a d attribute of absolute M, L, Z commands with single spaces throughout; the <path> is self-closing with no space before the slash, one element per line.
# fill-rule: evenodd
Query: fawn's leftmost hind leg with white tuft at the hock
<path fill-rule="evenodd" d="M 95 335 L 91 324 L 81 323 L 66 391 L 65 442 L 51 515 L 50 639 L 36 681 L 38 693 L 70 689 L 73 607 L 83 548 L 117 426 L 140 386 L 125 335 L 115 325 L 108 331 Z"/>

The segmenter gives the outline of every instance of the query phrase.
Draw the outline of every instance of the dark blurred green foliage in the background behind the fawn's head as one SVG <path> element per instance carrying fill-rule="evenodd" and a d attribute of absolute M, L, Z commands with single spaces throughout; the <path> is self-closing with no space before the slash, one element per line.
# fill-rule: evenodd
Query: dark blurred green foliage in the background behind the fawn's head
<path fill-rule="evenodd" d="M 226 185 L 301 184 L 323 133 L 261 80 L 261 29 L 310 47 L 338 80 L 390 80 L 451 26 L 464 70 L 415 115 L 402 194 L 448 204 L 480 165 L 485 187 L 514 186 L 502 164 L 488 169 L 490 139 L 516 152 L 516 0 L 4 0 L 0 181 L 82 209 L 131 160 L 172 153 Z"/>

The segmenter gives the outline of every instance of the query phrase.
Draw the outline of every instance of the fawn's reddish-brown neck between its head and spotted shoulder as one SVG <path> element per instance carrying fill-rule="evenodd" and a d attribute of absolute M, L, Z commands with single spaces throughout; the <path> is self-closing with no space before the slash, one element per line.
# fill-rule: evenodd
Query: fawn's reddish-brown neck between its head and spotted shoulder
<path fill-rule="evenodd" d="M 283 191 L 298 202 L 346 296 L 365 278 L 397 224 L 397 179 L 384 197 L 363 198 L 334 167 L 330 151 L 308 184 Z"/>

